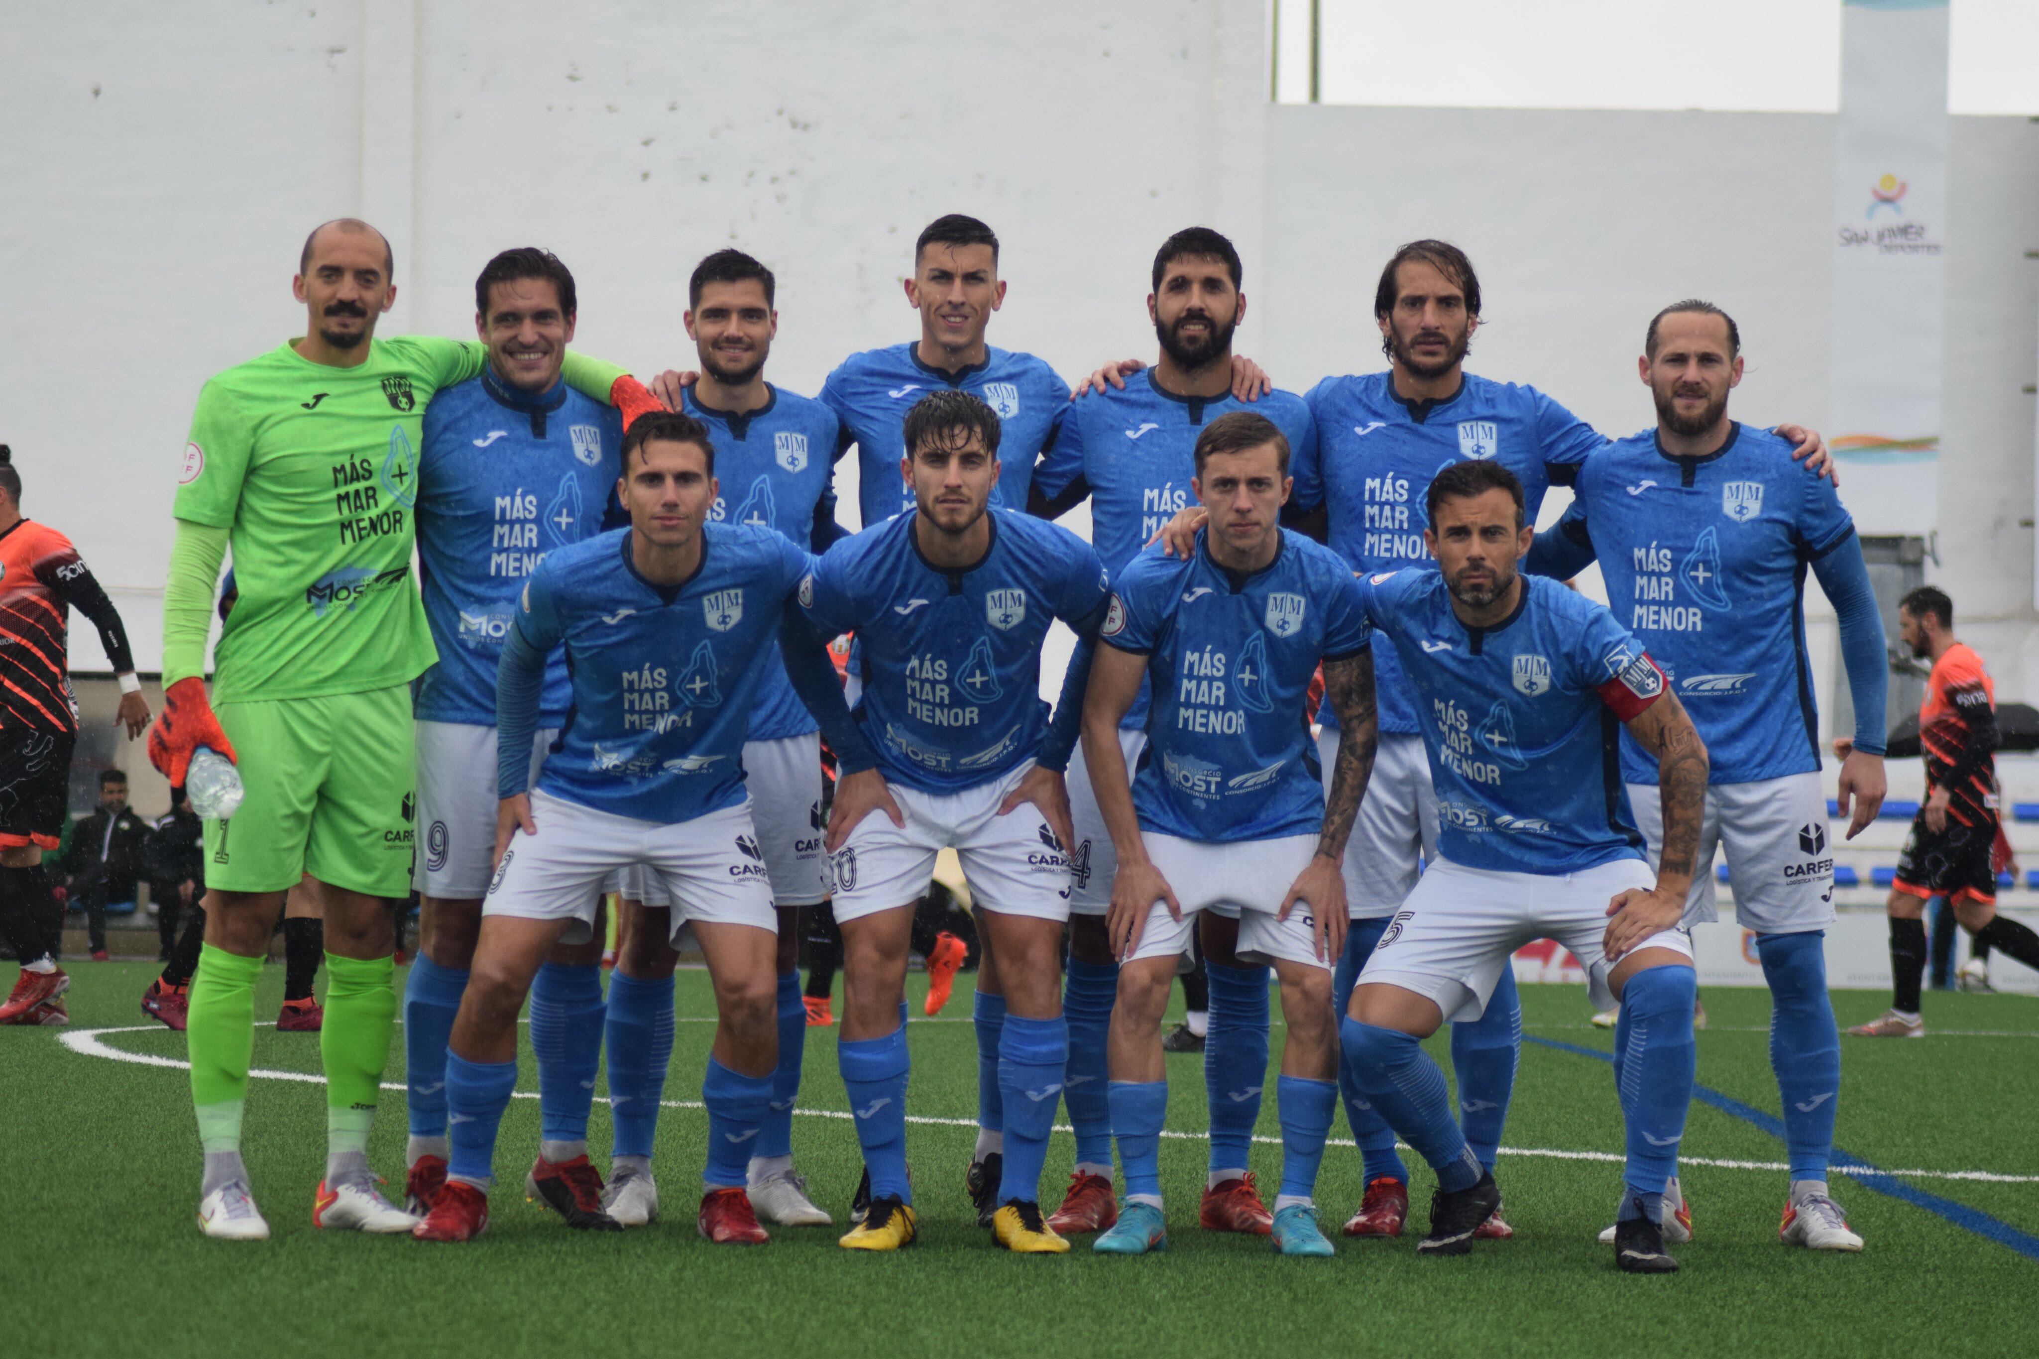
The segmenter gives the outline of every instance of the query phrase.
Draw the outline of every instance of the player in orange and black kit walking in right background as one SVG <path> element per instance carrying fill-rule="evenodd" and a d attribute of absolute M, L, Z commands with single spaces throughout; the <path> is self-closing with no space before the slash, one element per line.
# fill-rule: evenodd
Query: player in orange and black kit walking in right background
<path fill-rule="evenodd" d="M 1913 819 L 1890 886 L 1890 1009 L 1855 1037 L 1925 1037 L 1919 982 L 1925 976 L 1925 903 L 1945 896 L 1962 925 L 2027 968 L 2039 968 L 2039 935 L 1996 915 L 1996 687 L 1982 656 L 1953 638 L 1953 601 L 1923 585 L 1898 601 L 1898 638 L 1933 658 L 1919 705 L 1927 799 Z"/>

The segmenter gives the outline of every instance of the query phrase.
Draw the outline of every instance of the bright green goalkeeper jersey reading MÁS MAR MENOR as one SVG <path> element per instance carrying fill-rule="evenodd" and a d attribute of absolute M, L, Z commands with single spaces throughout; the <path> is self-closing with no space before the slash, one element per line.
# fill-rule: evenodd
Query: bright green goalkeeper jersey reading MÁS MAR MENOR
<path fill-rule="evenodd" d="M 232 546 L 216 703 L 367 693 L 432 664 L 410 579 L 424 405 L 485 361 L 436 336 L 371 340 L 351 369 L 279 344 L 206 383 L 175 515 Z M 569 352 L 563 375 L 606 401 L 622 373 Z"/>

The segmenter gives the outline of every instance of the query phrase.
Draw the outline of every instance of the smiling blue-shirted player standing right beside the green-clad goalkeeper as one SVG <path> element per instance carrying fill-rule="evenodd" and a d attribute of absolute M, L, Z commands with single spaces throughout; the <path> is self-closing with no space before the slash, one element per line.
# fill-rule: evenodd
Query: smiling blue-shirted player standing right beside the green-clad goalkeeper
<path fill-rule="evenodd" d="M 438 664 L 416 687 L 418 956 L 404 988 L 410 1106 L 406 1198 L 424 1214 L 447 1180 L 447 1035 L 461 1007 L 481 896 L 495 870 L 495 660 L 518 591 L 538 560 L 602 528 L 622 422 L 559 377 L 573 342 L 573 273 L 536 249 L 504 251 L 475 279 L 479 377 L 432 399 L 418 458 L 418 560 Z M 532 766 L 567 719 L 571 685 L 555 652 Z M 602 1059 L 602 947 L 561 945 L 532 982 L 542 1141 L 526 1192 L 571 1227 L 608 1227 L 587 1161 L 587 1112 Z"/>

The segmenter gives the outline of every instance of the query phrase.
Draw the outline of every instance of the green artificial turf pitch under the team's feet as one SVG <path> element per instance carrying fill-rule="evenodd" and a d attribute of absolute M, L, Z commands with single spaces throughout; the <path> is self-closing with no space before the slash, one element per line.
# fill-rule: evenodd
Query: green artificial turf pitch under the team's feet
<path fill-rule="evenodd" d="M 67 1002 L 71 1037 L 143 1025 L 137 998 L 153 964 L 77 964 Z M 257 992 L 273 1017 L 281 968 Z M 402 984 L 402 978 L 400 978 Z M 911 978 L 916 1017 L 924 978 Z M 1774 1115 L 1768 996 L 1705 994 L 1698 1080 Z M 1884 996 L 1837 992 L 1843 1025 L 1870 1019 Z M 693 1229 L 699 1196 L 699 1108 L 667 1108 L 657 1174 L 663 1218 L 650 1229 L 569 1233 L 524 1202 L 538 1137 L 536 1100 L 504 1119 L 489 1231 L 469 1245 L 424 1245 L 312 1229 L 312 1188 L 324 1157 L 324 1090 L 257 1078 L 247 1161 L 269 1216 L 267 1243 L 206 1241 L 194 1227 L 198 1137 L 188 1078 L 63 1043 L 63 1029 L 0 1033 L 0 1145 L 12 1174 L 0 1192 L 4 1326 L 22 1355 L 398 1353 L 432 1355 L 1352 1355 L 1352 1353 L 1790 1353 L 2012 1355 L 2039 1353 L 2039 1000 L 1927 996 L 1923 1041 L 1843 1039 L 1837 1141 L 1886 1170 L 1990 1172 L 1998 1180 L 1900 1178 L 1943 1202 L 1872 1192 L 1833 1176 L 1868 1249 L 1813 1255 L 1778 1245 L 1784 1172 L 1707 1161 L 1782 1159 L 1778 1139 L 1715 1104 L 1694 1102 L 1686 1127 L 1686 1194 L 1698 1237 L 1678 1247 L 1684 1271 L 1629 1278 L 1594 1241 L 1619 1194 L 1621 1117 L 1601 1059 L 1533 1039 L 1607 1051 L 1572 986 L 1525 986 L 1525 1041 L 1497 1176 L 1515 1239 L 1478 1243 L 1464 1259 L 1417 1259 L 1431 1176 L 1413 1155 L 1411 1233 L 1344 1241 L 1338 1257 L 1280 1259 L 1260 1237 L 1195 1227 L 1205 1145 L 1162 1143 L 1170 1245 L 1164 1255 L 1107 1259 L 1079 1239 L 1064 1257 L 1013 1257 L 975 1227 L 962 1194 L 977 1110 L 969 978 L 936 1023 L 909 1029 L 909 1149 L 922 1212 L 920 1243 L 899 1255 L 836 1247 L 840 1227 L 775 1229 L 765 1247 L 710 1247 Z M 701 972 L 679 974 L 683 1017 L 669 1102 L 699 1098 L 712 996 Z M 1276 1007 L 1276 1017 L 1278 1017 Z M 807 1031 L 807 1076 L 793 1125 L 814 1198 L 846 1216 L 856 1139 L 836 1076 L 834 1029 Z M 181 1059 L 184 1035 L 157 1025 L 96 1039 L 108 1049 Z M 90 1047 L 90 1043 L 86 1043 Z M 1280 1031 L 1274 1033 L 1274 1057 Z M 1446 1062 L 1444 1039 L 1431 1051 Z M 257 1029 L 255 1066 L 316 1072 L 316 1035 Z M 387 1080 L 402 1082 L 402 1029 Z M 536 1090 L 524 1047 L 520 1090 Z M 1168 1059 L 1168 1127 L 1205 1127 L 1203 1064 Z M 1272 1200 L 1280 1178 L 1272 1072 L 1254 1163 Z M 597 1096 L 602 1088 L 597 1086 Z M 404 1098 L 383 1098 L 371 1159 L 402 1186 Z M 834 1112 L 836 1117 L 828 1117 Z M 606 1163 L 608 1108 L 595 1102 L 589 1141 Z M 1350 1137 L 1340 1117 L 1334 1137 Z M 1073 1141 L 1048 1155 L 1060 1194 Z M 1541 1151 L 1541 1153 L 1539 1153 Z M 1603 1153 L 1576 1159 L 1560 1153 Z M 1360 1200 L 1360 1159 L 1334 1145 L 1317 1202 L 1336 1233 Z M 1900 1190 L 1902 1192 L 1902 1190 Z M 1968 1227 L 1962 1206 L 1988 1214 Z M 1980 1227 L 1982 1231 L 1976 1231 Z M 1996 1233 L 1990 1239 L 1982 1233 Z M 2008 1235 L 2006 1235 L 2008 1233 Z M 2008 1245 L 2006 1245 L 2008 1241 Z M 591 1347 L 591 1349 L 587 1349 Z"/>

